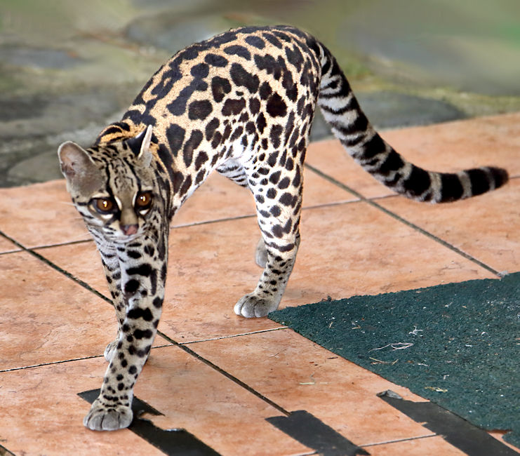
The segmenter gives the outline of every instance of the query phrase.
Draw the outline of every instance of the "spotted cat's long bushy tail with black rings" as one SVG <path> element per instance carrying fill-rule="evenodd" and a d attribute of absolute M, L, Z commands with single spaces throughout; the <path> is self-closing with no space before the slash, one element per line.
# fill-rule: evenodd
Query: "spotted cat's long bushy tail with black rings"
<path fill-rule="evenodd" d="M 481 166 L 436 173 L 406 161 L 374 130 L 338 62 L 325 46 L 319 47 L 321 112 L 350 156 L 382 184 L 417 201 L 445 203 L 489 192 L 507 182 L 507 171 L 502 168 Z"/>

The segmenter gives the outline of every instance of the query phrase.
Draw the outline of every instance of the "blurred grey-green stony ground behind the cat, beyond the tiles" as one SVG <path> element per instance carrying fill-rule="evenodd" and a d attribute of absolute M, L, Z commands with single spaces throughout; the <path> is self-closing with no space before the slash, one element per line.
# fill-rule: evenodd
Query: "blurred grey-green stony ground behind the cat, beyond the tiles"
<path fill-rule="evenodd" d="M 57 145 L 88 145 L 180 48 L 276 23 L 331 49 L 379 128 L 520 110 L 519 0 L 0 0 L 0 186 L 60 177 Z"/>

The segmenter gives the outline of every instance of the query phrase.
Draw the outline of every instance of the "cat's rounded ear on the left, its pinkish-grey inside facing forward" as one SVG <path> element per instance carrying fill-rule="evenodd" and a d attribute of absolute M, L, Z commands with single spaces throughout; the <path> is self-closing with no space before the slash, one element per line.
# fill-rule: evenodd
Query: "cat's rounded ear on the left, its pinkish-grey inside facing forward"
<path fill-rule="evenodd" d="M 67 185 L 69 186 L 80 187 L 88 181 L 93 183 L 95 180 L 93 176 L 99 174 L 91 156 L 75 142 L 67 141 L 60 145 L 58 157 L 60 158 L 61 172 L 67 178 Z"/>

